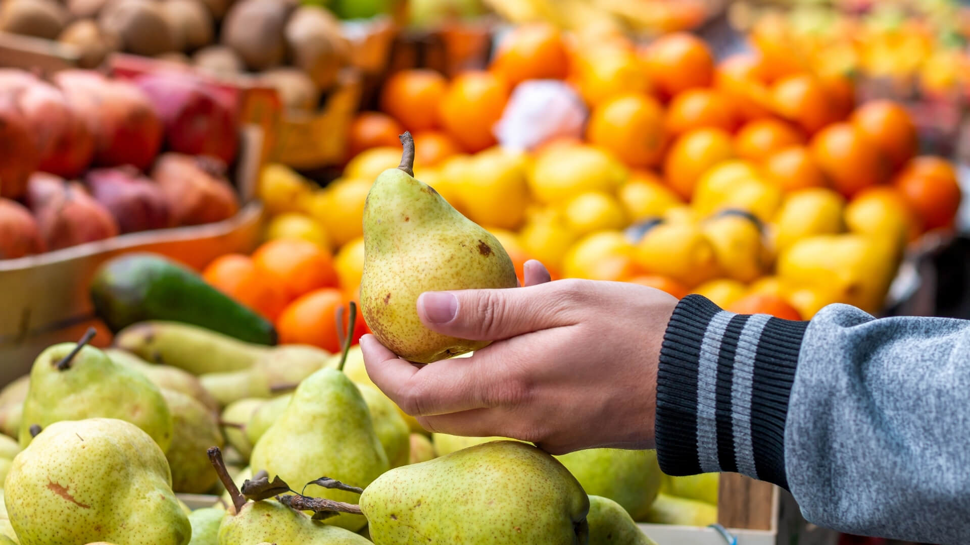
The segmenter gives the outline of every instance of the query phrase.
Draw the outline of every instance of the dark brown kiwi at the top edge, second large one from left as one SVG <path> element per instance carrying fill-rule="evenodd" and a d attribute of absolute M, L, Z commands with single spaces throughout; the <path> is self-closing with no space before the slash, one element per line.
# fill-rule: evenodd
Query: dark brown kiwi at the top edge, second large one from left
<path fill-rule="evenodd" d="M 176 33 L 153 0 L 111 2 L 101 11 L 98 23 L 130 53 L 153 57 L 176 50 Z"/>

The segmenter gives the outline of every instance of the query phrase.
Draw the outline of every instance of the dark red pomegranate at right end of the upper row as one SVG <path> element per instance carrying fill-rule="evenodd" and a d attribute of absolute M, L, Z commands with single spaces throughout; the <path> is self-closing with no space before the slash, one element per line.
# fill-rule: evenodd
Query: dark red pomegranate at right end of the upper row
<path fill-rule="evenodd" d="M 136 83 L 161 115 L 169 149 L 232 164 L 239 127 L 235 108 L 223 95 L 202 80 L 172 72 L 143 76 Z"/>

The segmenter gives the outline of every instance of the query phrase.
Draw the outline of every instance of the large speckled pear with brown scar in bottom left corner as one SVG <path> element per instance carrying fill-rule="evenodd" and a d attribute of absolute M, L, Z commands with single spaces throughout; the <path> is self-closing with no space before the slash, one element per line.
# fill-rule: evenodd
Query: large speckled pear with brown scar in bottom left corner
<path fill-rule="evenodd" d="M 185 545 L 165 454 L 113 418 L 51 424 L 16 456 L 4 497 L 20 545 Z"/>

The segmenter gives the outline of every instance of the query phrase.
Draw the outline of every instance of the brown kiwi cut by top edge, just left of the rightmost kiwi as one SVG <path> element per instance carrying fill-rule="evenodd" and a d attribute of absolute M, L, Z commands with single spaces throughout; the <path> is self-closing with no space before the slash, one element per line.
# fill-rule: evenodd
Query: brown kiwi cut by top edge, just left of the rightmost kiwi
<path fill-rule="evenodd" d="M 222 21 L 222 43 L 235 49 L 250 70 L 279 66 L 286 60 L 283 28 L 292 9 L 279 0 L 242 0 Z"/>

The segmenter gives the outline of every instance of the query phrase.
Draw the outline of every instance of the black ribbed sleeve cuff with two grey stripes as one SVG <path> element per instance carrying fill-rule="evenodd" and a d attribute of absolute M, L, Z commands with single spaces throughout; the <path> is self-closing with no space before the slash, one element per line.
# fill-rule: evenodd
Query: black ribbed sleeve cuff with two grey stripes
<path fill-rule="evenodd" d="M 684 298 L 663 336 L 657 456 L 668 475 L 734 471 L 788 488 L 785 419 L 808 322 Z"/>

